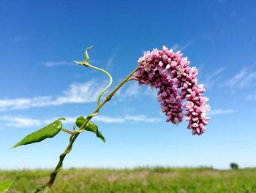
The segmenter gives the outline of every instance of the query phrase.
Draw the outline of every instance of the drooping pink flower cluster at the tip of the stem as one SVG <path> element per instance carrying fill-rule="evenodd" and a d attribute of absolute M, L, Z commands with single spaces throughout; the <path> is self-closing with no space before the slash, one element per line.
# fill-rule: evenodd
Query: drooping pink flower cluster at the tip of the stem
<path fill-rule="evenodd" d="M 192 134 L 203 134 L 210 119 L 206 117 L 210 107 L 206 105 L 208 98 L 203 96 L 205 88 L 197 84 L 197 69 L 189 67 L 187 57 L 163 46 L 162 50 L 145 52 L 138 63 L 140 69 L 134 74 L 135 80 L 140 85 L 159 89 L 158 101 L 167 116 L 166 121 L 178 124 L 185 115 Z M 187 102 L 182 104 L 184 99 Z M 184 110 L 187 113 L 184 114 Z"/>

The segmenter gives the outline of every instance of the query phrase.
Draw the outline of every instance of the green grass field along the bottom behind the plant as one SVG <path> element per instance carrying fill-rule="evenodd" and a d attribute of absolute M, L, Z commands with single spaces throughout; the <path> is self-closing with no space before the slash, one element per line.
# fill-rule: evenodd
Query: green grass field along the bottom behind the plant
<path fill-rule="evenodd" d="M 49 173 L 50 170 L 0 170 L 0 181 L 19 176 L 10 192 L 31 192 L 34 187 L 48 181 Z M 50 192 L 256 192 L 256 169 L 69 169 L 59 173 Z"/>

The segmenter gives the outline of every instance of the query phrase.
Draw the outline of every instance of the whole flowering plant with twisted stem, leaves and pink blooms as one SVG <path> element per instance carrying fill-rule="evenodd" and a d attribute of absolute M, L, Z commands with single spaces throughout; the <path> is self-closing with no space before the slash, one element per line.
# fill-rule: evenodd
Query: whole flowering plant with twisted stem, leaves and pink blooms
<path fill-rule="evenodd" d="M 99 69 L 89 64 L 88 51 L 90 49 L 91 47 L 86 49 L 84 61 L 75 61 L 75 63 L 104 72 L 110 79 L 108 86 L 99 94 L 97 107 L 94 112 L 86 118 L 83 116 L 78 117 L 71 131 L 63 127 L 62 122 L 65 118 L 59 118 L 48 126 L 39 129 L 37 132 L 27 135 L 12 147 L 15 148 L 20 145 L 38 143 L 46 138 L 56 136 L 61 130 L 70 135 L 69 144 L 64 153 L 59 156 L 59 162 L 55 170 L 50 174 L 49 181 L 37 187 L 34 192 L 48 192 L 53 186 L 56 176 L 62 168 L 65 156 L 72 151 L 72 145 L 80 133 L 84 131 L 94 132 L 105 143 L 105 137 L 99 132 L 98 126 L 91 122 L 91 118 L 97 116 L 99 110 L 129 80 L 136 80 L 140 86 L 151 86 L 151 88 L 159 90 L 157 92 L 158 101 L 160 102 L 162 112 L 167 116 L 167 122 L 170 121 L 173 124 L 178 124 L 186 116 L 186 120 L 189 121 L 187 128 L 192 129 L 193 135 L 201 135 L 205 132 L 206 125 L 208 124 L 207 121 L 210 119 L 206 116 L 206 112 L 210 110 L 209 105 L 206 105 L 208 98 L 203 96 L 206 90 L 203 88 L 203 85 L 197 84 L 197 69 L 195 67 L 189 67 L 190 62 L 187 60 L 187 57 L 183 57 L 180 51 L 175 53 L 172 49 L 169 50 L 163 46 L 162 50 L 154 49 L 151 52 L 145 52 L 144 56 L 138 60 L 138 67 L 101 101 L 102 95 L 111 86 L 113 79 L 104 69 Z M 182 103 L 184 100 L 187 100 L 187 102 Z"/>

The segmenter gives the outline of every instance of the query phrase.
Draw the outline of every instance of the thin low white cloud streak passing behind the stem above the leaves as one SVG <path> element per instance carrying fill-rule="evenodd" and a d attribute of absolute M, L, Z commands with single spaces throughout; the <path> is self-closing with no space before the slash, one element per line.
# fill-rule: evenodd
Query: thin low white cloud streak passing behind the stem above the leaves
<path fill-rule="evenodd" d="M 58 118 L 47 118 L 47 119 L 37 119 L 37 118 L 25 118 L 16 116 L 0 116 L 1 127 L 31 127 L 31 126 L 45 126 L 52 123 Z M 64 121 L 65 124 L 75 124 L 75 117 L 66 117 Z M 143 115 L 138 116 L 124 116 L 124 117 L 110 117 L 110 116 L 95 116 L 93 121 L 102 122 L 105 124 L 118 124 L 127 121 L 144 122 L 144 123 L 154 123 L 158 122 L 159 118 L 148 118 Z"/>

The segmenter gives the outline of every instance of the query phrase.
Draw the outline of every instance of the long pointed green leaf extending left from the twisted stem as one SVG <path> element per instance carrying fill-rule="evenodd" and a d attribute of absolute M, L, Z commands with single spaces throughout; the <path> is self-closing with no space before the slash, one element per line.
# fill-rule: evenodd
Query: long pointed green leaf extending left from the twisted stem
<path fill-rule="evenodd" d="M 62 129 L 61 120 L 65 120 L 65 118 L 59 118 L 58 120 L 54 121 L 53 123 L 49 124 L 48 126 L 45 126 L 44 128 L 39 129 L 37 132 L 33 132 L 33 133 L 27 135 L 26 137 L 23 138 L 23 140 L 20 140 L 20 142 L 17 143 L 16 145 L 14 145 L 12 148 L 16 148 L 20 145 L 37 143 L 42 140 L 45 140 L 46 138 L 54 137 Z"/>

